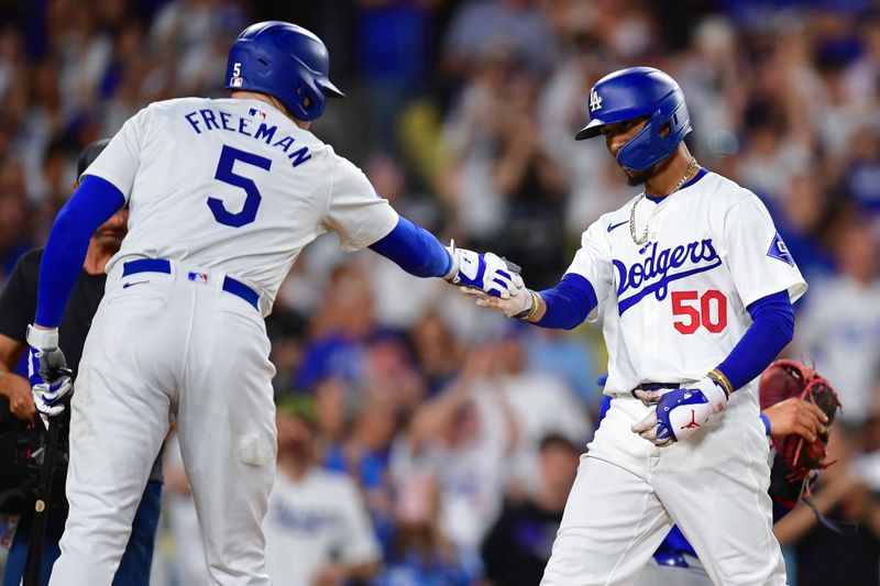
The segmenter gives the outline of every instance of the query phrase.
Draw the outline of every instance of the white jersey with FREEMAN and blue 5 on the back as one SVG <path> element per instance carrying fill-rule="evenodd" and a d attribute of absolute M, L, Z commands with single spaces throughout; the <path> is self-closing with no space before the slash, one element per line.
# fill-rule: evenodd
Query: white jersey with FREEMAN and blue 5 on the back
<path fill-rule="evenodd" d="M 263 314 L 309 242 L 334 231 L 353 251 L 397 224 L 358 167 L 252 99 L 154 102 L 86 174 L 113 184 L 130 206 L 108 273 L 132 257 L 220 269 L 261 294 Z"/>

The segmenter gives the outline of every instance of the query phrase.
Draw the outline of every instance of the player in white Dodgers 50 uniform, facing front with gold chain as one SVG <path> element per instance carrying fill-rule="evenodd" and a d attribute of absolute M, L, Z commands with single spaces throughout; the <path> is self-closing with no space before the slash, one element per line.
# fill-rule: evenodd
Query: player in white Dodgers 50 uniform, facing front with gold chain
<path fill-rule="evenodd" d="M 548 328 L 603 324 L 612 403 L 542 584 L 632 584 L 672 523 L 715 584 L 784 584 L 755 379 L 806 284 L 758 197 L 691 156 L 671 77 L 615 71 L 587 109 L 576 137 L 603 135 L 645 191 L 584 232 L 556 287 L 477 300 Z"/>

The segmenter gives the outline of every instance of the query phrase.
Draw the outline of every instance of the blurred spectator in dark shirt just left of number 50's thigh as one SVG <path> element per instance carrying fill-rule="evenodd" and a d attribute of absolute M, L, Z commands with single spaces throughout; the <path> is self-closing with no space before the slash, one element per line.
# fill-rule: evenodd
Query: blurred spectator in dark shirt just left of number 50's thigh
<path fill-rule="evenodd" d="M 566 438 L 550 434 L 541 440 L 541 491 L 522 502 L 505 502 L 483 541 L 483 563 L 492 584 L 535 586 L 541 582 L 579 460 L 580 451 Z"/>

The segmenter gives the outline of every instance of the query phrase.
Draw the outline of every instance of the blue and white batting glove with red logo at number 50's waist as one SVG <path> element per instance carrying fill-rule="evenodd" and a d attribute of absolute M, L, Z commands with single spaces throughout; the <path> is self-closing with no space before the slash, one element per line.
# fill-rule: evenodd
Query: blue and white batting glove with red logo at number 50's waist
<path fill-rule="evenodd" d="M 708 418 L 727 408 L 727 392 L 719 383 L 703 377 L 693 386 L 673 389 L 662 397 L 651 412 L 632 425 L 658 446 L 684 441 L 706 424 Z"/>

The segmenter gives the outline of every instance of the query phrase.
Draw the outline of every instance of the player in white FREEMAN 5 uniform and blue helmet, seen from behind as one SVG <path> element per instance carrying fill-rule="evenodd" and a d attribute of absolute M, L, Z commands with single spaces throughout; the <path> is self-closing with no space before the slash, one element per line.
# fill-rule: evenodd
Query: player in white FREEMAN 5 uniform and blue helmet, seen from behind
<path fill-rule="evenodd" d="M 443 247 L 309 132 L 329 78 L 323 43 L 294 24 L 248 27 L 230 49 L 231 99 L 155 102 L 125 122 L 59 212 L 29 328 L 37 410 L 69 389 L 57 324 L 88 236 L 124 203 L 129 234 L 72 402 L 70 515 L 52 584 L 109 585 L 176 416 L 212 584 L 267 585 L 261 529 L 276 430 L 263 317 L 297 255 L 333 231 L 418 276 L 509 295 L 492 254 Z M 292 552 L 292 554 L 295 554 Z"/>

